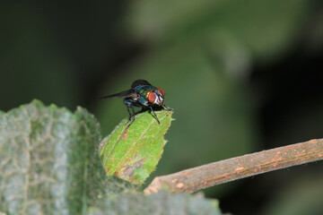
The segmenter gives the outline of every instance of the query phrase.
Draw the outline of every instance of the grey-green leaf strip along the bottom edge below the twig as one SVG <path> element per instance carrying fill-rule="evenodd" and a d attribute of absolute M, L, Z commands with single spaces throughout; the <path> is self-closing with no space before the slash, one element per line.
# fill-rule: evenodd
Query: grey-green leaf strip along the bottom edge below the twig
<path fill-rule="evenodd" d="M 105 201 L 100 208 L 89 208 L 88 215 L 115 214 L 198 214 L 220 215 L 219 202 L 205 199 L 202 193 L 194 195 L 188 193 L 170 194 L 161 191 L 149 196 L 143 194 L 121 194 L 113 201 Z"/>

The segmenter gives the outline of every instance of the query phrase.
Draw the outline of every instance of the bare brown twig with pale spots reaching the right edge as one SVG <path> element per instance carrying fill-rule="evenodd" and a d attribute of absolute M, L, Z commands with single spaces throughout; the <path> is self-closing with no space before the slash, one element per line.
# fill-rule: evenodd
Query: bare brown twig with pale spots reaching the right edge
<path fill-rule="evenodd" d="M 320 159 L 323 159 L 323 139 L 315 139 L 157 176 L 144 193 L 157 193 L 163 187 L 172 193 L 193 193 L 205 187 Z"/>

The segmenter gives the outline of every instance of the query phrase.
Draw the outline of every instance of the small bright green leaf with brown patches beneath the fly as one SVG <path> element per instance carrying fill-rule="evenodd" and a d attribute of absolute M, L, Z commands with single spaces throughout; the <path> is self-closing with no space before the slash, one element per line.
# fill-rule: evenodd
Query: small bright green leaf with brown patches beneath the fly
<path fill-rule="evenodd" d="M 100 156 L 108 176 L 118 176 L 133 184 L 142 184 L 162 157 L 167 141 L 163 136 L 170 127 L 172 111 L 156 112 L 161 125 L 148 112 L 127 119 L 100 143 Z"/>

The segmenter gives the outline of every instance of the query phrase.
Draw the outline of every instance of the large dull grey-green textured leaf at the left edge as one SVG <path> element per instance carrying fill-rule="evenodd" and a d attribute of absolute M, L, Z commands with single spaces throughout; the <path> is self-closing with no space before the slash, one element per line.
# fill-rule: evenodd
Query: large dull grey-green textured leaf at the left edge
<path fill-rule="evenodd" d="M 100 125 L 40 101 L 0 111 L 0 209 L 8 214 L 81 214 L 104 191 Z"/>

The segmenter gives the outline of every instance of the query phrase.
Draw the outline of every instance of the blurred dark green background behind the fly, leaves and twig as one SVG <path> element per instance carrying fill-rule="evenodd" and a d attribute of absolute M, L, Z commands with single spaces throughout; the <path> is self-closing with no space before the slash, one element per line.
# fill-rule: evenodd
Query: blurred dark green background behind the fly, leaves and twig
<path fill-rule="evenodd" d="M 176 119 L 153 176 L 321 138 L 322 62 L 319 0 L 0 2 L 0 109 L 83 106 L 105 136 L 127 109 L 100 96 L 146 79 Z M 233 214 L 323 214 L 322 167 L 205 194 Z"/>

